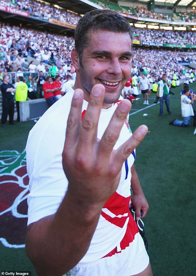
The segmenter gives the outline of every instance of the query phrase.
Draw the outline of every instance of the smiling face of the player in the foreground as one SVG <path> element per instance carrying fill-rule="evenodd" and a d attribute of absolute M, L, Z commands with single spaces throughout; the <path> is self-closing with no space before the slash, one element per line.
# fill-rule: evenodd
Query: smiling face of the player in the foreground
<path fill-rule="evenodd" d="M 128 33 L 98 30 L 89 34 L 89 46 L 84 48 L 79 68 L 84 99 L 88 99 L 97 83 L 105 87 L 104 103 L 115 103 L 119 99 L 131 74 L 131 45 Z"/>

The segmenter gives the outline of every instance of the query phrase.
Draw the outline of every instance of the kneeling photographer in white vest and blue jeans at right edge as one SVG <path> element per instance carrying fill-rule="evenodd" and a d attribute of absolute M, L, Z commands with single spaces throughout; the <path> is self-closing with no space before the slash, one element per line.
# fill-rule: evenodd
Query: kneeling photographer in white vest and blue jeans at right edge
<path fill-rule="evenodd" d="M 190 99 L 188 98 L 190 96 Z M 190 92 L 189 87 L 184 88 L 184 94 L 181 95 L 181 116 L 183 117 L 182 120 L 173 120 L 169 122 L 169 125 L 178 125 L 178 126 L 189 126 L 190 125 L 190 119 L 192 116 L 194 116 L 194 111 L 192 104 L 195 100 L 195 94 L 193 92 Z"/>

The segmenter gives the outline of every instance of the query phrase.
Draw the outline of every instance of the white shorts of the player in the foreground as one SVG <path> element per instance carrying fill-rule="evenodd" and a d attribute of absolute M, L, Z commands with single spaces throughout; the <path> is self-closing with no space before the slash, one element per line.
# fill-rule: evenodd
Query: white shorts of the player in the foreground
<path fill-rule="evenodd" d="M 131 276 L 142 272 L 148 264 L 143 239 L 137 233 L 130 246 L 120 253 L 93 262 L 80 262 L 64 276 Z"/>

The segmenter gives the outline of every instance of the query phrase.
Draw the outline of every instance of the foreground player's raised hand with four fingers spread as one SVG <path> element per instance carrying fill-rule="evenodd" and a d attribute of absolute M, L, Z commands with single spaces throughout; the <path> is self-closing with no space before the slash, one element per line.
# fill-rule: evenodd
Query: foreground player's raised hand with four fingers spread
<path fill-rule="evenodd" d="M 116 191 L 123 162 L 143 140 L 147 127 L 141 125 L 121 147 L 113 150 L 130 111 L 129 100 L 122 100 L 99 141 L 97 126 L 104 99 L 104 86 L 94 85 L 87 111 L 81 122 L 83 91 L 75 90 L 69 118 L 62 164 L 69 181 L 68 191 L 75 200 L 100 208 Z"/>

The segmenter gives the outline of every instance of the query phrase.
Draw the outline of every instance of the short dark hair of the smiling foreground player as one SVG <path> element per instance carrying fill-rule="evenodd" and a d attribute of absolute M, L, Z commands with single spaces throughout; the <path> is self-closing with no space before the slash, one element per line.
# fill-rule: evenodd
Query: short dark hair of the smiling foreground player
<path fill-rule="evenodd" d="M 115 33 L 129 33 L 132 41 L 132 30 L 129 22 L 119 13 L 111 10 L 93 10 L 87 12 L 75 29 L 75 49 L 82 65 L 82 54 L 89 45 L 89 33 L 97 30 L 107 30 Z"/>

